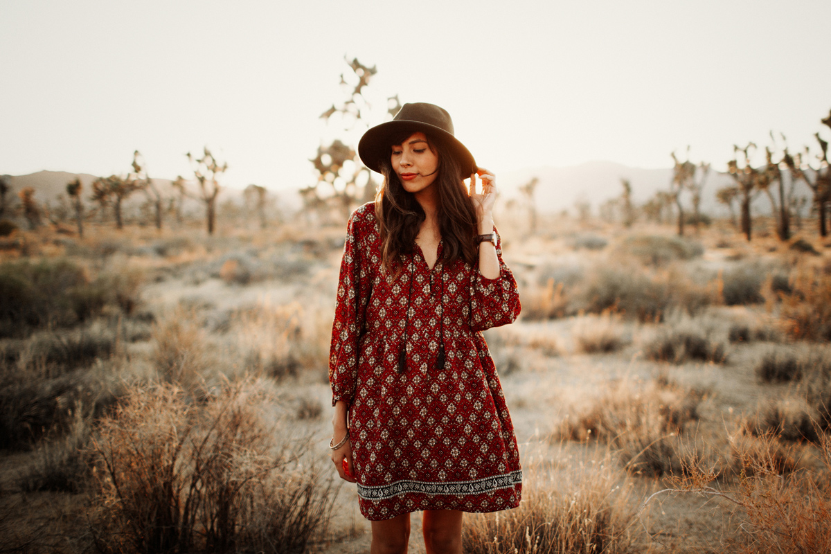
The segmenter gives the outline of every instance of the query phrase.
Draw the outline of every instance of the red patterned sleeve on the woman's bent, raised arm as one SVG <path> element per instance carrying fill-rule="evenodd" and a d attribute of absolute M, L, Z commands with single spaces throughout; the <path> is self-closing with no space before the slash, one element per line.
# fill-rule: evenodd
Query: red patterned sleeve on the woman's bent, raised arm
<path fill-rule="evenodd" d="M 499 277 L 488 279 L 474 267 L 473 286 L 470 291 L 470 328 L 484 331 L 513 323 L 519 316 L 519 289 L 514 273 L 502 260 L 502 239 L 496 233 L 496 257 L 499 258 Z"/>

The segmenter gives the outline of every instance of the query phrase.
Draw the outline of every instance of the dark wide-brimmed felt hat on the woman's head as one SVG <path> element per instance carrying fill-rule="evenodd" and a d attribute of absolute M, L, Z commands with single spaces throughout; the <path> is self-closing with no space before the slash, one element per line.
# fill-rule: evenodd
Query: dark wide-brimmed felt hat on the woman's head
<path fill-rule="evenodd" d="M 391 137 L 404 131 L 421 131 L 441 145 L 459 163 L 462 179 L 475 173 L 476 160 L 470 150 L 455 137 L 450 114 L 444 108 L 425 102 L 402 105 L 391 121 L 376 125 L 364 133 L 358 143 L 358 155 L 364 165 L 381 173 L 381 160 L 390 159 Z"/>

